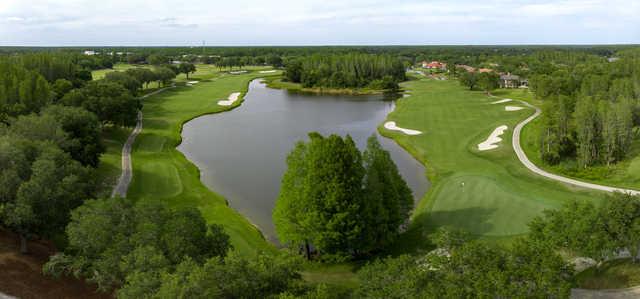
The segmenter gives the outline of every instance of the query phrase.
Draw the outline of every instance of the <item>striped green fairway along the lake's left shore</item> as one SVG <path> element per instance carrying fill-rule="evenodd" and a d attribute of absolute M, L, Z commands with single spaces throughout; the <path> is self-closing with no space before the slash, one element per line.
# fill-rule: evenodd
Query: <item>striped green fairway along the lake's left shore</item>
<path fill-rule="evenodd" d="M 134 200 L 157 200 L 175 207 L 199 208 L 210 223 L 225 227 L 234 248 L 243 254 L 270 251 L 274 247 L 246 218 L 230 208 L 223 197 L 200 182 L 199 170 L 175 147 L 180 143 L 184 122 L 240 105 L 240 102 L 236 102 L 232 107 L 223 107 L 217 101 L 226 99 L 232 92 L 246 92 L 248 82 L 262 75 L 256 70 L 254 68 L 252 72 L 242 75 L 229 75 L 207 69 L 200 75 L 209 80 L 193 87 L 169 89 L 144 99 L 143 131 L 133 147 L 133 180 L 127 194 Z M 109 152 L 112 152 L 109 148 Z M 117 170 L 120 169 L 119 160 L 111 156 L 103 157 L 104 173 L 116 170 L 116 164 Z"/>

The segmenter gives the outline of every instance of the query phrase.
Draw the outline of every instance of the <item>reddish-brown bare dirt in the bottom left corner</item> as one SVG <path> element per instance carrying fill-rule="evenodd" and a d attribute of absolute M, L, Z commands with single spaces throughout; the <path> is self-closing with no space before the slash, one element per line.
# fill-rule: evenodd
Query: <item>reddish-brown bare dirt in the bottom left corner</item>
<path fill-rule="evenodd" d="M 29 252 L 20 254 L 18 236 L 0 228 L 0 292 L 21 299 L 113 298 L 81 280 L 42 274 L 42 265 L 55 253 L 50 242 L 30 241 Z"/>

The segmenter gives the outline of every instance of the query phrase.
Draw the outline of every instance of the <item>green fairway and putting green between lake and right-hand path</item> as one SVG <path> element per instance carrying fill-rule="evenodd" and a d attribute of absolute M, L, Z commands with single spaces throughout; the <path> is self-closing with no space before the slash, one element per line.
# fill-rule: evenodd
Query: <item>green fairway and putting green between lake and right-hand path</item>
<path fill-rule="evenodd" d="M 424 133 L 408 136 L 380 126 L 427 167 L 433 183 L 417 205 L 413 222 L 398 247 L 426 246 L 425 234 L 438 226 L 454 226 L 474 235 L 503 239 L 527 232 L 527 223 L 544 209 L 569 199 L 597 200 L 598 192 L 578 190 L 539 177 L 518 161 L 511 146 L 513 127 L 531 109 L 505 111 L 477 91 L 456 81 L 422 79 L 404 84 L 411 96 L 398 101 L 388 116 L 399 127 Z M 494 129 L 507 125 L 497 149 L 479 151 Z M 409 248 L 402 248 L 408 251 Z"/>

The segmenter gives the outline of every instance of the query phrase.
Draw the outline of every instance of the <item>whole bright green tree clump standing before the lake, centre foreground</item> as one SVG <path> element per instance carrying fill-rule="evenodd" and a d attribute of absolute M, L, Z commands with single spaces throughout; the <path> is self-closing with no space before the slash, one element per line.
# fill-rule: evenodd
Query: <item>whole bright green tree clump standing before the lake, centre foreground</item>
<path fill-rule="evenodd" d="M 273 213 L 279 239 L 311 247 L 326 259 L 384 248 L 399 233 L 413 204 L 389 153 L 375 137 L 365 159 L 349 136 L 309 134 L 287 157 Z"/>

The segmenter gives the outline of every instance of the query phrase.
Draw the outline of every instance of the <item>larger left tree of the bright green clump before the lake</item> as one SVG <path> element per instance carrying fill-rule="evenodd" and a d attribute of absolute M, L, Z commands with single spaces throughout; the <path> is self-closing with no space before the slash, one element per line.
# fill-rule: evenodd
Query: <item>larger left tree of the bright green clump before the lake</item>
<path fill-rule="evenodd" d="M 311 243 L 327 257 L 344 258 L 357 249 L 355 243 L 363 225 L 355 220 L 361 206 L 364 174 L 360 152 L 350 137 L 325 138 L 317 133 L 309 137 L 311 141 L 300 161 L 304 166 L 296 167 L 300 163 L 296 161 L 285 173 L 285 177 L 300 173 L 304 184 L 283 179 L 283 191 L 274 211 L 276 231 L 283 242 L 304 244 L 307 251 Z M 294 194 L 301 197 L 292 197 Z M 299 202 L 291 204 L 292 201 Z M 304 206 L 303 211 L 296 209 Z M 292 222 L 288 221 L 290 217 L 295 217 Z M 311 234 L 301 235 L 297 227 L 290 228 L 298 225 L 311 228 Z"/>

